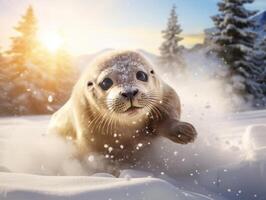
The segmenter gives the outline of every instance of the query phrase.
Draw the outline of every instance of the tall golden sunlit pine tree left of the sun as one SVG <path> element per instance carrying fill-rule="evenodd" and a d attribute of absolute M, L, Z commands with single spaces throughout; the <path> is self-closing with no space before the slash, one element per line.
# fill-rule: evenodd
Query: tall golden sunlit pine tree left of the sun
<path fill-rule="evenodd" d="M 31 6 L 15 27 L 18 35 L 12 37 L 12 44 L 7 54 L 9 80 L 12 86 L 8 96 L 12 100 L 13 110 L 10 114 L 37 114 L 43 112 L 41 99 L 41 71 L 38 69 L 37 55 L 40 44 L 37 40 L 37 20 Z"/>

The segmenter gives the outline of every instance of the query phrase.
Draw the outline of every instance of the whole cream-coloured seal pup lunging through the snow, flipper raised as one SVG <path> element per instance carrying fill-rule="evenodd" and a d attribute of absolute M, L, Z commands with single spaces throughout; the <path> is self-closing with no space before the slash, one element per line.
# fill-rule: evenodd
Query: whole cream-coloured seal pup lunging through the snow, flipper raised
<path fill-rule="evenodd" d="M 129 162 L 158 136 L 187 144 L 196 138 L 180 121 L 180 100 L 140 53 L 102 55 L 83 72 L 49 132 L 71 138 L 80 155 L 98 153 Z"/>

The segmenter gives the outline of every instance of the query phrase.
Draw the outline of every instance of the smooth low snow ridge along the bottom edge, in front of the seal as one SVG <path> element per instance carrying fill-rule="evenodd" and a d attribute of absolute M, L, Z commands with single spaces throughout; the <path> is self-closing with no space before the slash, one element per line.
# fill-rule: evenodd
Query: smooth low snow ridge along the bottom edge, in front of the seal
<path fill-rule="evenodd" d="M 0 173 L 0 199 L 206 200 L 155 178 L 62 177 Z"/>

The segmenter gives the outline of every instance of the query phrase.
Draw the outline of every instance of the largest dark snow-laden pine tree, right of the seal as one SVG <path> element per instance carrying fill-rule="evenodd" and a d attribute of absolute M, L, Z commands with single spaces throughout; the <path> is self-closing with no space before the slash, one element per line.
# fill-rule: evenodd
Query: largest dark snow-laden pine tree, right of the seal
<path fill-rule="evenodd" d="M 251 17 L 256 11 L 244 7 L 253 2 L 221 0 L 218 3 L 220 13 L 212 17 L 216 27 L 212 39 L 215 43 L 214 51 L 228 66 L 233 97 L 236 94 L 254 105 L 254 100 L 261 96 L 261 85 L 257 81 L 261 69 L 254 62 L 256 33 L 251 29 L 255 25 Z"/>

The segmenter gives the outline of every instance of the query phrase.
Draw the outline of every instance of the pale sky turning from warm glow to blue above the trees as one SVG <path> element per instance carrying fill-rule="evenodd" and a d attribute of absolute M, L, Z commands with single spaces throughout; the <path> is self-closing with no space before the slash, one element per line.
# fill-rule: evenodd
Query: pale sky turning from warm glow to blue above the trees
<path fill-rule="evenodd" d="M 13 27 L 29 5 L 38 19 L 40 35 L 60 33 L 74 55 L 106 48 L 145 49 L 158 53 L 161 31 L 166 28 L 175 4 L 183 29 L 182 44 L 191 47 L 203 41 L 203 31 L 212 27 L 218 0 L 0 0 L 0 46 L 7 49 Z M 266 0 L 248 6 L 266 10 Z"/>

